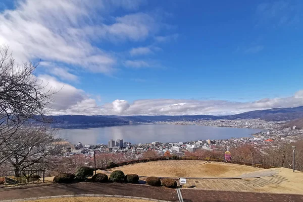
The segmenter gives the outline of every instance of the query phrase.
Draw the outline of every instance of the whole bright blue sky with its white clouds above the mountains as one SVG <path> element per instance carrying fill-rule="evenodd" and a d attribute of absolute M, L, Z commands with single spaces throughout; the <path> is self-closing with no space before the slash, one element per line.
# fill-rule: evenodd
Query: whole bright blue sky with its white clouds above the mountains
<path fill-rule="evenodd" d="M 232 114 L 303 105 L 300 1 L 4 1 L 0 44 L 55 114 Z"/>

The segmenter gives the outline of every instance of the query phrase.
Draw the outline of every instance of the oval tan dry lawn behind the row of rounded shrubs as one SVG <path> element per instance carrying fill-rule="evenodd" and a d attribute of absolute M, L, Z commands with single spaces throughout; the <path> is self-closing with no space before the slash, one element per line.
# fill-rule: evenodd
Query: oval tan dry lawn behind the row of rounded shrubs
<path fill-rule="evenodd" d="M 250 166 L 195 160 L 151 161 L 109 169 L 122 170 L 124 174 L 158 177 L 237 177 L 247 172 L 260 170 Z M 99 171 L 103 172 L 103 171 Z"/>

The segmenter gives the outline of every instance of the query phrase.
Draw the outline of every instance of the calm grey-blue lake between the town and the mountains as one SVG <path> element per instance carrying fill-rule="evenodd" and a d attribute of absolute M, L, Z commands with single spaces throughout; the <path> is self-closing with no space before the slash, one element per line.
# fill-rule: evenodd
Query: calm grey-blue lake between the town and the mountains
<path fill-rule="evenodd" d="M 136 124 L 111 127 L 75 128 L 58 130 L 58 137 L 72 144 L 108 144 L 110 139 L 122 139 L 132 144 L 151 142 L 186 142 L 207 139 L 249 137 L 261 129 L 212 127 L 200 125 Z"/>

